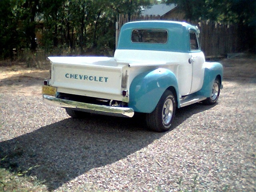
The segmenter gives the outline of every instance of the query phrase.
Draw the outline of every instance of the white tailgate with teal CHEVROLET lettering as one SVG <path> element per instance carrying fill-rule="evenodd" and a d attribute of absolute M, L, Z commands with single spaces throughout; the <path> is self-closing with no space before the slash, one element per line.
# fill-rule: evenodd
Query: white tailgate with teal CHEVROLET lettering
<path fill-rule="evenodd" d="M 51 84 L 57 88 L 84 90 L 108 94 L 121 94 L 122 67 L 112 58 L 94 57 L 95 62 L 58 62 L 49 58 L 52 63 Z M 68 60 L 68 57 L 67 57 Z M 86 61 L 86 57 L 84 57 Z M 92 60 L 92 59 L 91 59 Z M 79 59 L 78 59 L 79 61 Z M 65 63 L 66 62 L 66 63 Z M 58 90 L 57 90 L 58 91 Z"/>

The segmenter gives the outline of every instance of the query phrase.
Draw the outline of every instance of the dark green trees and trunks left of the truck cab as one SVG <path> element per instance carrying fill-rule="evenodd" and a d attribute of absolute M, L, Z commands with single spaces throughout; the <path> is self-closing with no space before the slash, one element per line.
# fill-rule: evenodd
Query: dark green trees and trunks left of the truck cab
<path fill-rule="evenodd" d="M 84 54 L 92 48 L 115 48 L 119 14 L 136 14 L 149 0 L 0 0 L 0 56 L 12 58 L 13 49 L 44 54 Z M 58 51 L 56 51 L 58 50 Z M 68 51 L 67 51 L 68 50 Z M 28 66 L 30 58 L 25 58 Z"/>

